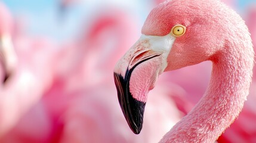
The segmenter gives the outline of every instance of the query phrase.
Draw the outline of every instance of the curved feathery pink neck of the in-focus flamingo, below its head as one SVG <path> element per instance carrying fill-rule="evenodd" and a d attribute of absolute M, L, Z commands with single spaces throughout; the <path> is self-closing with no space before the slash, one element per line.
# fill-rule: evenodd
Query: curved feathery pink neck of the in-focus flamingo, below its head
<path fill-rule="evenodd" d="M 251 83 L 254 52 L 252 47 L 226 49 L 230 51 L 211 59 L 205 95 L 161 142 L 214 142 L 238 117 Z"/>

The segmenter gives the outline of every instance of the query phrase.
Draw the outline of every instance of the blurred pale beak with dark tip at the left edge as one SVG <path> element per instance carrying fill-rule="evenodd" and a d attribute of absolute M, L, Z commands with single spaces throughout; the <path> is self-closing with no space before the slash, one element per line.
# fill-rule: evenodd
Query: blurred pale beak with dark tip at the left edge
<path fill-rule="evenodd" d="M 0 35 L 0 62 L 4 68 L 4 83 L 17 66 L 17 55 L 10 35 Z"/>

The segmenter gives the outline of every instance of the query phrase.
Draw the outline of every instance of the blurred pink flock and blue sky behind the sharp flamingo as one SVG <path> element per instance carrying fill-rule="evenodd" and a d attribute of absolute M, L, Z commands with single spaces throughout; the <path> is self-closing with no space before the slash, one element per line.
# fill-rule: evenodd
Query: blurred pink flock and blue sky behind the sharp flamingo
<path fill-rule="evenodd" d="M 113 67 L 160 2 L 0 1 L 0 142 L 158 142 L 202 97 L 211 74 L 210 62 L 162 74 L 140 135 L 129 129 Z M 256 1 L 224 2 L 256 46 Z M 253 79 L 245 108 L 218 142 L 256 142 Z"/>

